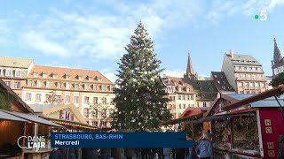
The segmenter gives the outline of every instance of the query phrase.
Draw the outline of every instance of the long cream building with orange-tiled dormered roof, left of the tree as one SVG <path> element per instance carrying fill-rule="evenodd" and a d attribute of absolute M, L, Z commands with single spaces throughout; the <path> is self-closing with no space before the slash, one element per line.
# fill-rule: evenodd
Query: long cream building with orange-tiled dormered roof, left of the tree
<path fill-rule="evenodd" d="M 53 95 L 59 105 L 74 103 L 89 125 L 108 127 L 114 111 L 113 87 L 97 71 L 35 65 L 23 87 L 23 100 L 32 108 L 44 107 Z"/>

